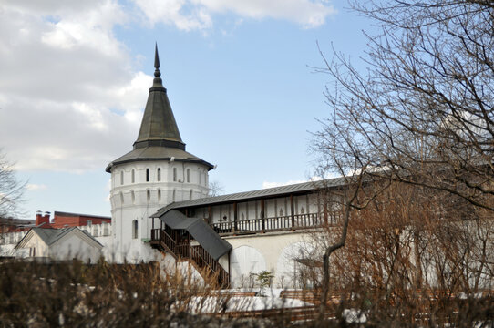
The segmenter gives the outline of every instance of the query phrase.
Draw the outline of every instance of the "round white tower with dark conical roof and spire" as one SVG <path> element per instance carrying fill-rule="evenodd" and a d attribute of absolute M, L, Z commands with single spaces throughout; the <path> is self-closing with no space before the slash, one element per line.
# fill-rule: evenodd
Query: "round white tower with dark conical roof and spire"
<path fill-rule="evenodd" d="M 154 80 L 134 149 L 108 164 L 111 173 L 113 261 L 151 261 L 149 216 L 173 201 L 205 197 L 212 165 L 185 151 L 160 78 L 155 48 Z"/>

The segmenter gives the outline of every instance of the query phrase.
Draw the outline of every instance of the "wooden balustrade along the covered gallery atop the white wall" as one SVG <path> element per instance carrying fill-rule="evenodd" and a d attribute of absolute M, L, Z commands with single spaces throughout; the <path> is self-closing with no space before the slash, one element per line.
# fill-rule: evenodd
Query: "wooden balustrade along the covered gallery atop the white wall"
<path fill-rule="evenodd" d="M 336 217 L 331 216 L 330 222 L 334 224 Z M 262 224 L 263 223 L 263 224 Z M 211 224 L 211 228 L 220 234 L 227 233 L 255 233 L 262 231 L 283 231 L 304 228 L 314 228 L 323 225 L 324 220 L 317 213 L 295 214 L 273 218 L 239 220 L 234 229 L 233 221 L 216 222 Z"/>

